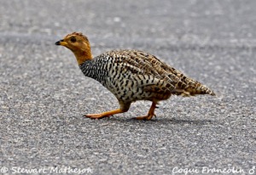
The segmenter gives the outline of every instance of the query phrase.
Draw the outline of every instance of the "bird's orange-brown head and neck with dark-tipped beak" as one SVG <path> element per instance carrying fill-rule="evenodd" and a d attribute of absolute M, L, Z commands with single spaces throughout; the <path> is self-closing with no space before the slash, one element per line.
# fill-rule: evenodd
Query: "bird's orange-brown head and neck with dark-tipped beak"
<path fill-rule="evenodd" d="M 68 34 L 60 41 L 55 42 L 55 45 L 61 45 L 70 49 L 76 56 L 79 65 L 88 59 L 92 59 L 92 55 L 90 53 L 90 42 L 82 33 L 73 32 Z"/>

